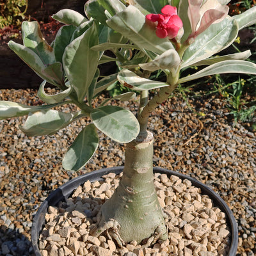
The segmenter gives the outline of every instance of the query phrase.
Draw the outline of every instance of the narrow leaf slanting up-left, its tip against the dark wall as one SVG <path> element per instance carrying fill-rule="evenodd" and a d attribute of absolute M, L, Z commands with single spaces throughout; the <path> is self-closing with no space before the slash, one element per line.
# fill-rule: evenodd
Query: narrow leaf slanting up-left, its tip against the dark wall
<path fill-rule="evenodd" d="M 8 45 L 10 49 L 12 49 L 12 51 L 20 57 L 20 59 L 22 59 L 30 68 L 36 72 L 36 74 L 38 74 L 38 76 L 42 77 L 44 80 L 47 80 L 47 82 L 51 84 L 59 86 L 59 84 L 57 84 L 51 79 L 51 77 L 49 77 L 49 69 L 51 68 L 47 69 L 45 63 L 42 62 L 42 60 L 38 57 L 38 55 L 36 55 L 34 51 L 13 41 L 10 41 Z"/>

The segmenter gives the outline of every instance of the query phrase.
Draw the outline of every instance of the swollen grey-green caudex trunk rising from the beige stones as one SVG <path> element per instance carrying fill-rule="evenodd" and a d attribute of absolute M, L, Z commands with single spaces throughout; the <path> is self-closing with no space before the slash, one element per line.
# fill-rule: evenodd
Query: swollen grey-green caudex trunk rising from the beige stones
<path fill-rule="evenodd" d="M 127 144 L 125 167 L 115 193 L 102 205 L 94 234 L 108 231 L 120 245 L 147 239 L 155 243 L 167 238 L 163 212 L 153 183 L 153 136 Z"/>

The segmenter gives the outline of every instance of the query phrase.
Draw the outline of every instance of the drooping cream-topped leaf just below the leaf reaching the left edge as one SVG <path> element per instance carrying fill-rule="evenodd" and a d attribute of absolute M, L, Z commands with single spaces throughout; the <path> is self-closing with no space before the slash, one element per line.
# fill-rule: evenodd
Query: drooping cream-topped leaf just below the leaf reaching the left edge
<path fill-rule="evenodd" d="M 29 113 L 20 130 L 28 136 L 52 135 L 70 124 L 74 114 L 63 113 L 57 110 L 42 110 Z"/>

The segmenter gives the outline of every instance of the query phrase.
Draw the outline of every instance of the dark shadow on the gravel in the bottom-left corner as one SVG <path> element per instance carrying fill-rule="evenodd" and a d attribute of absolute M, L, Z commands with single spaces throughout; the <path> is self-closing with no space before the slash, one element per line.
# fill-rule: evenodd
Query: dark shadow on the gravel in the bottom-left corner
<path fill-rule="evenodd" d="M 28 237 L 12 228 L 0 226 L 0 255 L 3 256 L 35 256 L 32 243 Z"/>

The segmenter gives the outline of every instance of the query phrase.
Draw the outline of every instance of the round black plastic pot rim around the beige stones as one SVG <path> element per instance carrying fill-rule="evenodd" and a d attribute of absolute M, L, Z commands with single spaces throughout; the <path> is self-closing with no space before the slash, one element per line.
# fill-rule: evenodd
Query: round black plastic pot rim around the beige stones
<path fill-rule="evenodd" d="M 38 238 L 40 236 L 40 231 L 42 230 L 42 227 L 45 223 L 45 212 L 47 212 L 47 208 L 52 205 L 58 205 L 58 203 L 61 200 L 67 199 L 70 194 L 76 189 L 79 185 L 86 182 L 86 180 L 90 180 L 91 182 L 95 180 L 102 180 L 102 176 L 106 175 L 110 172 L 113 173 L 120 173 L 124 167 L 113 167 L 113 168 L 105 168 L 98 171 L 94 171 L 91 173 L 86 173 L 84 175 L 81 175 L 79 177 L 76 177 L 75 179 L 72 179 L 68 181 L 66 184 L 63 184 L 60 186 L 60 188 L 54 190 L 43 202 L 43 204 L 39 207 L 38 211 L 36 212 L 35 218 L 33 220 L 33 225 L 31 228 L 31 240 L 32 240 L 32 246 L 35 251 L 36 256 L 41 256 L 40 250 L 38 248 Z M 163 168 L 157 168 L 154 167 L 154 173 L 165 173 L 170 177 L 171 175 L 176 175 L 180 179 L 188 179 L 191 181 L 193 186 L 196 188 L 200 188 L 203 195 L 208 195 L 212 201 L 214 202 L 214 206 L 219 207 L 221 211 L 225 212 L 227 216 L 227 225 L 230 228 L 231 232 L 231 244 L 230 244 L 230 250 L 228 252 L 228 256 L 235 256 L 237 251 L 237 244 L 238 244 L 238 230 L 237 230 L 237 223 L 234 218 L 234 215 L 228 208 L 228 205 L 224 202 L 224 200 L 216 194 L 211 188 L 208 188 L 202 182 L 199 182 L 196 179 L 193 179 L 187 175 L 183 175 L 181 173 L 173 172 L 170 170 L 166 170 Z"/>

